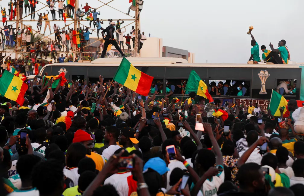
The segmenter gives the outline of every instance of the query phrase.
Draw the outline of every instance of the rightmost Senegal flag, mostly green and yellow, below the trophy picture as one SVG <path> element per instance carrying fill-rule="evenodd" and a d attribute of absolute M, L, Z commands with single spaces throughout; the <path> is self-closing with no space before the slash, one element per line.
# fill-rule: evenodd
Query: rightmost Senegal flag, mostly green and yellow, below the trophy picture
<path fill-rule="evenodd" d="M 283 114 L 287 111 L 287 101 L 286 99 L 278 94 L 276 91 L 272 90 L 271 98 L 269 102 L 269 109 L 271 112 L 271 115 L 273 116 L 281 116 L 280 107 L 284 109 Z"/>

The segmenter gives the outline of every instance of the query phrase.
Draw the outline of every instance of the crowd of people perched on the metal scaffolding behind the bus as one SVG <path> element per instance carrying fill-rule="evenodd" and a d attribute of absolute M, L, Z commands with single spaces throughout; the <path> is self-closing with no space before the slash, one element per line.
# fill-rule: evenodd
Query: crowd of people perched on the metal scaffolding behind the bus
<path fill-rule="evenodd" d="M 28 13 L 31 16 L 31 20 L 35 20 L 35 9 L 36 9 L 36 4 L 38 4 L 39 2 L 36 0 L 27 0 L 27 1 L 23 1 L 23 0 L 18 0 L 18 5 L 19 5 L 19 17 L 20 19 L 22 19 L 23 16 L 23 3 L 24 3 L 24 11 L 25 11 L 25 17 L 27 17 L 28 15 L 26 14 L 27 8 L 30 8 L 29 10 L 31 11 L 31 13 Z M 140 5 L 140 11 L 142 9 L 143 6 L 143 1 L 139 1 L 137 2 Z M 15 20 L 16 18 L 16 9 L 17 9 L 17 2 L 16 0 L 14 0 L 14 2 L 12 2 L 12 0 L 9 2 L 9 14 L 7 15 L 5 8 L 2 8 L 1 5 L 1 9 L 2 9 L 2 22 L 3 22 L 3 28 L 1 28 L 1 44 L 0 44 L 0 50 L 2 49 L 2 51 L 5 50 L 5 47 L 7 48 L 16 48 L 16 50 L 20 50 L 22 52 L 26 51 L 26 52 L 32 52 L 35 51 L 36 52 L 36 56 L 38 55 L 43 55 L 45 56 L 45 58 L 47 58 L 50 54 L 51 54 L 51 58 L 54 59 L 54 61 L 57 60 L 57 58 L 59 57 L 59 54 L 57 54 L 58 52 L 65 52 L 68 53 L 71 49 L 73 49 L 73 46 L 75 45 L 77 48 L 78 52 L 81 52 L 80 56 L 86 56 L 88 51 L 90 51 L 89 49 L 89 44 L 92 43 L 92 41 L 90 42 L 90 34 L 92 34 L 96 29 L 97 29 L 97 38 L 99 40 L 99 33 L 107 33 L 107 35 L 109 35 L 109 30 L 107 31 L 106 29 L 109 29 L 109 26 L 107 28 L 103 28 L 102 24 L 103 21 L 102 19 L 99 20 L 99 18 L 97 17 L 98 15 L 100 15 L 100 12 L 97 12 L 96 9 L 92 8 L 91 6 L 88 5 L 88 3 L 85 4 L 84 7 L 82 7 L 81 5 L 81 9 L 83 9 L 84 11 L 82 11 L 80 8 L 78 8 L 78 10 L 76 10 L 75 15 L 76 18 L 78 20 L 78 26 L 79 28 L 77 29 L 73 29 L 73 28 L 69 28 L 68 25 L 66 25 L 66 19 L 67 18 L 71 18 L 73 19 L 74 17 L 74 7 L 71 5 L 71 3 L 68 3 L 67 6 L 64 4 L 64 2 L 62 0 L 48 0 L 47 4 L 49 6 L 50 12 L 48 10 L 42 12 L 37 12 L 36 14 L 38 15 L 38 22 L 37 22 L 37 30 L 33 30 L 27 26 L 23 26 L 22 28 L 18 27 L 18 28 L 14 28 L 13 25 L 8 25 L 7 24 L 7 16 L 9 16 L 9 20 Z M 58 4 L 58 10 L 55 10 L 57 8 L 57 4 Z M 59 20 L 62 19 L 64 20 L 64 28 L 60 28 L 58 25 L 56 25 L 56 23 L 54 23 L 54 25 L 52 26 L 52 30 L 51 30 L 51 24 L 50 24 L 50 20 L 49 20 L 49 13 L 51 13 L 52 15 L 52 21 L 57 21 L 56 19 L 56 11 L 59 14 Z M 130 10 L 129 10 L 130 11 Z M 140 12 L 139 12 L 140 14 Z M 80 19 L 82 19 L 83 17 L 86 17 L 86 19 L 89 22 L 89 26 L 80 26 Z M 43 21 L 45 21 L 45 25 L 44 25 L 44 31 L 42 32 L 42 23 Z M 91 30 L 91 23 L 93 22 L 93 26 L 94 29 Z M 134 26 L 132 27 L 130 34 L 128 33 L 127 35 L 125 35 L 124 33 L 126 32 L 126 28 L 124 28 L 124 31 L 122 31 L 123 29 L 121 29 L 121 24 L 124 23 L 124 21 L 120 21 L 120 19 L 116 22 L 113 22 L 112 19 L 108 19 L 109 25 L 113 25 L 113 29 L 112 29 L 112 33 L 115 32 L 116 34 L 116 42 L 117 45 L 119 44 L 119 49 L 118 50 L 118 46 L 116 46 L 116 43 L 114 42 L 109 42 L 109 44 L 112 44 L 116 47 L 116 49 L 123 55 L 123 51 L 124 51 L 124 43 L 127 46 L 127 50 L 126 52 L 131 53 L 131 43 L 130 40 L 132 39 L 133 41 L 133 49 L 134 49 L 134 43 L 135 43 L 135 29 Z M 58 22 L 57 22 L 58 24 Z M 14 26 L 16 27 L 16 24 L 14 24 Z M 54 33 L 55 35 L 55 40 L 54 43 L 51 42 L 45 42 L 43 44 L 43 41 L 40 40 L 40 45 L 38 45 L 39 42 L 34 41 L 35 37 L 38 35 L 44 36 L 46 33 L 47 28 L 49 29 L 50 33 Z M 66 29 L 67 28 L 67 29 Z M 2 32 L 2 30 L 4 31 L 4 33 Z M 106 39 L 105 37 L 103 37 L 104 39 Z M 114 39 L 114 34 L 112 39 Z M 124 41 L 124 39 L 126 39 L 126 41 Z M 101 39 L 100 39 L 101 40 Z M 147 40 L 147 37 L 145 36 L 144 32 L 140 33 L 140 30 L 138 31 L 138 48 L 137 48 L 137 52 L 140 53 L 140 49 L 143 46 L 144 41 Z M 105 40 L 108 41 L 108 40 Z M 107 44 L 105 41 L 101 40 L 101 43 L 104 45 L 109 45 Z M 51 44 L 52 43 L 52 44 Z M 55 47 L 52 47 L 55 46 Z M 121 51 L 121 46 L 123 47 L 123 51 Z M 37 50 L 36 50 L 37 49 Z M 104 48 L 101 47 L 101 49 L 103 50 Z M 105 47 L 105 50 L 107 50 L 108 48 Z M 83 53 L 86 52 L 86 53 Z M 102 52 L 102 51 L 100 51 Z M 54 53 L 54 55 L 53 55 Z M 56 57 L 57 55 L 57 57 Z M 29 55 L 31 56 L 31 54 Z M 104 56 L 104 55 L 102 55 Z"/>

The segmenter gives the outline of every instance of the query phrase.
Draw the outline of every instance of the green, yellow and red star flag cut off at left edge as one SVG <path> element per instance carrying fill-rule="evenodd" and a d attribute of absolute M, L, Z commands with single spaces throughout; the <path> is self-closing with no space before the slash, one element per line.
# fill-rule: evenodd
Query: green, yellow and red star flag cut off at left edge
<path fill-rule="evenodd" d="M 19 77 L 5 70 L 0 78 L 0 95 L 23 105 L 28 86 Z"/>

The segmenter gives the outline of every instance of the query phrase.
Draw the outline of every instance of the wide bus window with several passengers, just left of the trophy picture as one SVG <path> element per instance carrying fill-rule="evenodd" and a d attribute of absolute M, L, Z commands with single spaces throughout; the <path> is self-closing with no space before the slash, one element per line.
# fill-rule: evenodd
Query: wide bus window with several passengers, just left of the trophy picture
<path fill-rule="evenodd" d="M 209 80 L 211 96 L 250 96 L 249 80 Z"/>

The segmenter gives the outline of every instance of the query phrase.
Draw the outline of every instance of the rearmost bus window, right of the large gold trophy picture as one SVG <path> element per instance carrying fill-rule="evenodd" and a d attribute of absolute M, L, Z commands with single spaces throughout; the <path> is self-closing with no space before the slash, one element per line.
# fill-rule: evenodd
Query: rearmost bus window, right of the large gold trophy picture
<path fill-rule="evenodd" d="M 297 81 L 295 79 L 277 79 L 276 91 L 280 95 L 295 95 Z"/>

